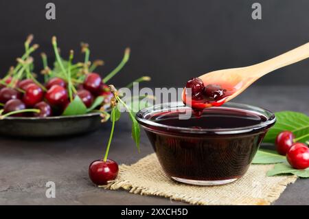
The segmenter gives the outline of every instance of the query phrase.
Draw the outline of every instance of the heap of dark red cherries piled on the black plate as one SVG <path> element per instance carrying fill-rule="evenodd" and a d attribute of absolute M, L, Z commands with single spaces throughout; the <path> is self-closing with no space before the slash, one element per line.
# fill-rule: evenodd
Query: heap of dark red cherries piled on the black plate
<path fill-rule="evenodd" d="M 39 109 L 39 113 L 17 113 L 15 117 L 50 117 L 62 115 L 69 104 L 67 82 L 62 78 L 51 78 L 45 85 L 27 78 L 15 80 L 12 77 L 5 79 L 1 84 L 0 103 L 3 113 L 21 111 L 26 108 Z M 98 73 L 87 73 L 84 82 L 76 86 L 77 93 L 87 108 L 93 104 L 95 97 L 104 96 L 104 102 L 109 102 L 113 94 L 109 87 L 102 82 Z"/>

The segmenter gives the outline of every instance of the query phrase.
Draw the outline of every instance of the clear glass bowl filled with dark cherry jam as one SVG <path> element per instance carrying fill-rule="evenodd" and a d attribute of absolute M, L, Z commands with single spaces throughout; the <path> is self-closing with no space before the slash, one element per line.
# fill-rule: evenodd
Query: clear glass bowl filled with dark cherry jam
<path fill-rule="evenodd" d="M 193 185 L 221 185 L 243 176 L 275 124 L 270 111 L 230 102 L 205 108 L 200 117 L 180 102 L 159 104 L 136 118 L 164 172 Z"/>

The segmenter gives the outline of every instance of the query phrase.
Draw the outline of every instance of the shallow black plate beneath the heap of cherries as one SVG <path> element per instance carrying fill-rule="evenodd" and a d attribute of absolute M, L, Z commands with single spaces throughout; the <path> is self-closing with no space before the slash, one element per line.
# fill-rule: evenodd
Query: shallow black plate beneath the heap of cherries
<path fill-rule="evenodd" d="M 0 120 L 0 136 L 60 137 L 78 135 L 106 126 L 100 113 L 56 117 L 5 117 Z"/>

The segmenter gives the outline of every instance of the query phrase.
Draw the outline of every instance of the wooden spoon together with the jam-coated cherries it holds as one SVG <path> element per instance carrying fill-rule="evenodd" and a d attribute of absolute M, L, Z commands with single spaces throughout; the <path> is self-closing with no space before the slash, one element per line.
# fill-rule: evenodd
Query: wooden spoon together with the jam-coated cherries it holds
<path fill-rule="evenodd" d="M 255 65 L 205 73 L 187 81 L 186 87 L 183 89 L 183 102 L 199 111 L 211 106 L 220 106 L 242 93 L 266 73 L 308 57 L 309 43 L 306 43 L 285 54 Z"/>

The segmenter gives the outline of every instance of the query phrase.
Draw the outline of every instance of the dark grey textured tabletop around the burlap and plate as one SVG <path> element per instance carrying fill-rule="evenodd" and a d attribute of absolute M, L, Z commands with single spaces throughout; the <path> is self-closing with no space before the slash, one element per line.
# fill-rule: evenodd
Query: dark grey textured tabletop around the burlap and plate
<path fill-rule="evenodd" d="M 309 87 L 253 87 L 234 102 L 271 111 L 299 111 L 309 115 Z M 130 139 L 130 123 L 117 122 L 109 157 L 118 163 L 135 163 L 152 148 L 141 132 L 141 153 Z M 140 196 L 93 186 L 88 165 L 104 154 L 110 128 L 89 135 L 54 139 L 0 137 L 1 205 L 182 205 L 168 198 Z M 56 183 L 56 198 L 46 198 L 47 181 Z M 309 179 L 288 185 L 275 205 L 309 205 Z"/>

